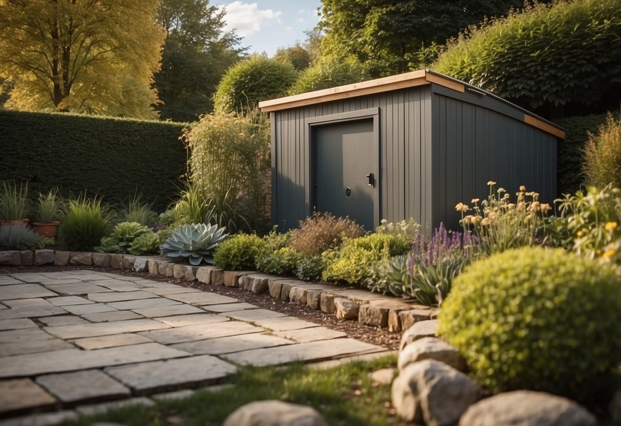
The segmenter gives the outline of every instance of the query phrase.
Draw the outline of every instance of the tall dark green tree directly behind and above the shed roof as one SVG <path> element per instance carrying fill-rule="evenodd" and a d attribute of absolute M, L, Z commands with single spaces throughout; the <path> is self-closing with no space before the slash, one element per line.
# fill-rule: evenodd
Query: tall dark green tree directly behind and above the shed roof
<path fill-rule="evenodd" d="M 545 0 L 549 2 L 550 0 Z M 376 75 L 408 71 L 420 51 L 524 0 L 322 0 L 322 51 L 354 55 Z"/>

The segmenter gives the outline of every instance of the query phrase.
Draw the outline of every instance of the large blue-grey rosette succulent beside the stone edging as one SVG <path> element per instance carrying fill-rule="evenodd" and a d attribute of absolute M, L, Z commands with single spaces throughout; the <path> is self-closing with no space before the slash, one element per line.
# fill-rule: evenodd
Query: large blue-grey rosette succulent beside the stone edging
<path fill-rule="evenodd" d="M 161 245 L 161 255 L 167 256 L 173 262 L 187 259 L 194 266 L 203 262 L 214 263 L 211 253 L 227 237 L 224 231 L 225 227 L 218 229 L 218 225 L 181 225 Z"/>

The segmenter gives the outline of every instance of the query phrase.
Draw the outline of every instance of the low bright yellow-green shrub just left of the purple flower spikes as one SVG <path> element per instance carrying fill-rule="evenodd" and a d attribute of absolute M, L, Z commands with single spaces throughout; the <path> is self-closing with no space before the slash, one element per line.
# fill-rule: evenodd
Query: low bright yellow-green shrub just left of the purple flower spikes
<path fill-rule="evenodd" d="M 391 256 L 404 255 L 410 249 L 410 242 L 401 235 L 371 233 L 343 243 L 335 252 L 324 252 L 327 264 L 322 278 L 325 281 L 345 281 L 348 284 L 361 283 L 369 274 L 374 263 Z"/>

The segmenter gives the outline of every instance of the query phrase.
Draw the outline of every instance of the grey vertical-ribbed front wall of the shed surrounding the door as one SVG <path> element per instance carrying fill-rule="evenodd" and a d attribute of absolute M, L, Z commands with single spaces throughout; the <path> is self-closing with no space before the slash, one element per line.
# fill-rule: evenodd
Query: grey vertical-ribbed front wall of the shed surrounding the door
<path fill-rule="evenodd" d="M 311 214 L 304 120 L 379 107 L 380 216 L 431 220 L 431 88 L 420 86 L 272 113 L 273 224 L 286 230 Z"/>

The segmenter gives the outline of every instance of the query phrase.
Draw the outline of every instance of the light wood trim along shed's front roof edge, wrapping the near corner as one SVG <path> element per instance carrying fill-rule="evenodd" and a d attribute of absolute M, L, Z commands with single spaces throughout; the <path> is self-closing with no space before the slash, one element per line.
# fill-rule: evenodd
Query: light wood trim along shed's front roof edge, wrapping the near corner
<path fill-rule="evenodd" d="M 321 102 L 338 101 L 339 99 L 348 99 L 350 97 L 365 96 L 396 89 L 406 89 L 430 83 L 440 84 L 447 88 L 460 91 L 461 93 L 465 91 L 464 84 L 458 81 L 429 73 L 427 70 L 418 70 L 369 81 L 361 81 L 360 83 L 347 84 L 346 86 L 339 86 L 337 88 L 271 99 L 270 101 L 259 102 L 259 107 L 263 112 L 279 111 L 281 109 L 308 106 Z"/>

